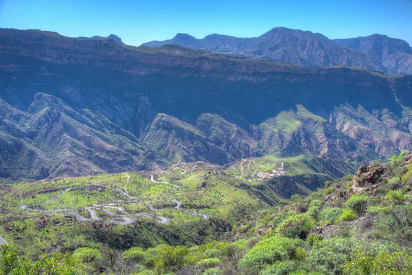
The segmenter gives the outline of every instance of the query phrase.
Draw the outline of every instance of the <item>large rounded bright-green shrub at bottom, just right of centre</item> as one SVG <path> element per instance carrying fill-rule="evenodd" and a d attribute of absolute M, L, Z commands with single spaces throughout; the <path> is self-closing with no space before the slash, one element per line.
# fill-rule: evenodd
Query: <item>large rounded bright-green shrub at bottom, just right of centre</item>
<path fill-rule="evenodd" d="M 266 264 L 284 261 L 295 254 L 298 246 L 304 246 L 304 241 L 289 239 L 284 236 L 269 236 L 260 241 L 240 259 L 242 268 L 262 268 Z"/>

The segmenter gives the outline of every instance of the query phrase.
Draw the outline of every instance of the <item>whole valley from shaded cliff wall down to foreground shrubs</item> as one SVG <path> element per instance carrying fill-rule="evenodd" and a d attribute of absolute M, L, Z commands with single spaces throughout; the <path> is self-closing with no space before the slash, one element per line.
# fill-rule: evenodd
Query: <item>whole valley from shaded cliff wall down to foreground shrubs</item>
<path fill-rule="evenodd" d="M 412 76 L 0 34 L 1 272 L 411 270 Z"/>

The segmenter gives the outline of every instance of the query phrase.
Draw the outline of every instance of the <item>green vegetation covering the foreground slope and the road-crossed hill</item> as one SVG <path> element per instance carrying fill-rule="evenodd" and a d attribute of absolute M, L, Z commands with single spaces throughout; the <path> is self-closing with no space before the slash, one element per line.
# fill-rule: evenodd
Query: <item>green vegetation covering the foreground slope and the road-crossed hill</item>
<path fill-rule="evenodd" d="M 220 179 L 222 175 L 205 173 L 205 170 L 184 173 L 187 170 L 184 167 L 168 170 L 163 178 L 174 178 L 174 184 L 185 186 L 182 190 L 153 189 L 155 195 L 148 195 L 147 199 L 159 198 L 166 193 L 176 196 L 185 201 L 183 205 L 187 209 L 197 206 L 199 212 L 210 214 L 207 222 L 202 221 L 201 217 L 168 209 L 158 212 L 170 215 L 176 223 L 172 219 L 170 225 L 159 225 L 141 218 L 130 225 L 96 224 L 95 221 L 87 225 L 69 221 L 65 214 L 52 214 L 45 218 L 46 225 L 39 225 L 41 223 L 38 221 L 43 218 L 38 214 L 21 211 L 19 213 L 27 215 L 27 218 L 4 223 L 1 234 L 18 245 L 21 242 L 16 237 L 24 236 L 34 248 L 25 250 L 23 245 L 3 246 L 1 271 L 21 274 L 22 266 L 27 270 L 37 268 L 33 272 L 30 270 L 30 274 L 36 274 L 38 270 L 47 270 L 53 261 L 59 261 L 62 273 L 51 274 L 66 274 L 63 273 L 65 270 L 72 272 L 67 274 L 411 274 L 412 180 L 410 176 L 407 179 L 411 166 L 410 158 L 405 157 L 405 153 L 398 158 L 400 160 L 392 158 L 391 163 L 385 166 L 371 164 L 370 170 L 383 169 L 383 172 L 374 178 L 374 182 L 363 183 L 363 188 L 352 188 L 359 186 L 361 172 L 358 172 L 354 177 L 334 179 L 325 188 L 308 196 L 293 195 L 291 199 L 279 201 L 272 207 L 257 204 L 253 208 L 243 208 L 246 212 L 242 217 L 237 217 L 237 222 L 231 222 L 229 217 L 233 208 L 223 210 L 216 203 L 230 201 L 236 203 L 236 207 L 244 206 L 240 201 L 230 199 L 233 185 L 225 189 L 223 178 Z M 150 188 L 152 183 L 146 182 L 139 174 L 132 175 L 129 192 L 148 194 L 144 189 Z M 210 181 L 205 180 L 205 175 L 217 184 L 207 187 Z M 103 177 L 111 179 L 113 186 L 124 186 L 121 175 L 103 175 L 101 179 Z M 113 177 L 118 177 L 120 181 L 113 181 Z M 400 181 L 399 178 L 405 180 Z M 141 181 L 140 185 L 138 181 Z M 209 201 L 205 200 L 206 195 L 189 196 L 202 192 L 196 182 L 202 184 L 203 181 L 206 182 L 203 188 L 207 188 Z M 84 179 L 70 180 L 72 186 L 83 182 Z M 144 182 L 146 187 L 143 188 Z M 347 188 L 349 182 L 351 188 Z M 52 186 L 56 188 L 58 183 L 45 183 L 42 188 Z M 19 195 L 19 203 L 45 201 L 54 196 L 53 192 L 33 196 L 38 187 L 31 184 L 4 188 L 8 188 L 9 194 L 2 193 L 5 198 L 2 206 L 4 212 L 10 211 L 13 205 L 10 198 L 16 199 L 16 195 Z M 239 189 L 233 197 L 241 196 L 254 203 L 255 197 L 250 189 Z M 118 196 L 116 192 L 100 195 L 89 192 L 93 195 L 90 199 L 96 199 L 99 203 Z M 81 198 L 88 192 L 79 190 L 73 194 L 79 198 L 61 196 L 62 202 L 81 208 Z M 161 201 L 158 203 L 157 206 L 163 204 Z M 10 219 L 10 216 L 6 215 L 3 219 Z M 54 219 L 58 219 L 60 225 L 51 225 Z M 185 223 L 187 232 L 177 223 Z M 48 231 L 43 230 L 42 226 Z M 10 232 L 9 228 L 12 228 Z M 36 234 L 34 228 L 41 234 Z M 194 228 L 203 230 L 196 234 L 206 237 L 188 241 L 188 237 L 193 236 L 188 231 Z M 144 237 L 138 234 L 144 234 Z M 111 238 L 117 240 L 117 245 L 110 241 Z M 174 241 L 170 241 L 172 239 Z M 42 241 L 53 241 L 61 245 L 60 250 L 49 248 Z M 49 249 L 50 256 L 46 257 L 39 248 Z"/>

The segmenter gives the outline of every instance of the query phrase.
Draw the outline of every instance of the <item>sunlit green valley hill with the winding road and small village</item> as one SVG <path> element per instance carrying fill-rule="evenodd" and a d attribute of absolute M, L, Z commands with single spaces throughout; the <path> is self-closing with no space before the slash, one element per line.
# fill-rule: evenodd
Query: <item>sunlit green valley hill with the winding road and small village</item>
<path fill-rule="evenodd" d="M 244 177 L 239 177 L 243 163 L 249 165 L 244 165 Z M 258 171 L 270 171 L 279 163 L 284 164 L 286 173 L 280 181 L 248 180 L 260 173 Z M 122 238 L 130 234 L 134 238 L 135 234 L 150 234 L 144 241 L 149 246 L 164 242 L 195 244 L 218 238 L 221 230 L 229 230 L 248 214 L 277 205 L 292 193 L 308 195 L 323 186 L 325 180 L 347 172 L 343 170 L 331 176 L 322 173 L 328 172 L 323 166 L 313 168 L 308 166 L 311 164 L 306 156 L 262 157 L 243 159 L 227 167 L 194 162 L 151 173 L 3 184 L 0 209 L 4 226 L 0 228 L 0 235 L 12 245 L 32 245 L 33 253 L 48 242 L 59 242 L 62 251 L 69 250 L 74 235 L 83 245 L 97 242 L 119 248 L 113 243 L 115 239 L 107 240 L 99 235 L 104 230 L 120 230 Z M 352 168 L 347 166 L 347 169 Z M 194 228 L 203 233 L 187 232 Z M 50 231 L 52 229 L 55 231 Z M 149 233 L 152 230 L 155 231 Z M 170 232 L 176 235 L 165 238 Z M 122 245 L 136 245 L 139 241 L 142 240 L 137 237 Z"/>

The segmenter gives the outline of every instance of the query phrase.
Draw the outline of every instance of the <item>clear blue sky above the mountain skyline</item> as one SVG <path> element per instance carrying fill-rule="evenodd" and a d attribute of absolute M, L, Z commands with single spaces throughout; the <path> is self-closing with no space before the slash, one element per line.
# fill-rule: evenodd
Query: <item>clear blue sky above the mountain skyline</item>
<path fill-rule="evenodd" d="M 128 45 L 177 33 L 255 37 L 275 27 L 330 39 L 387 34 L 412 45 L 412 0 L 0 0 L 0 28 L 116 34 Z"/>

